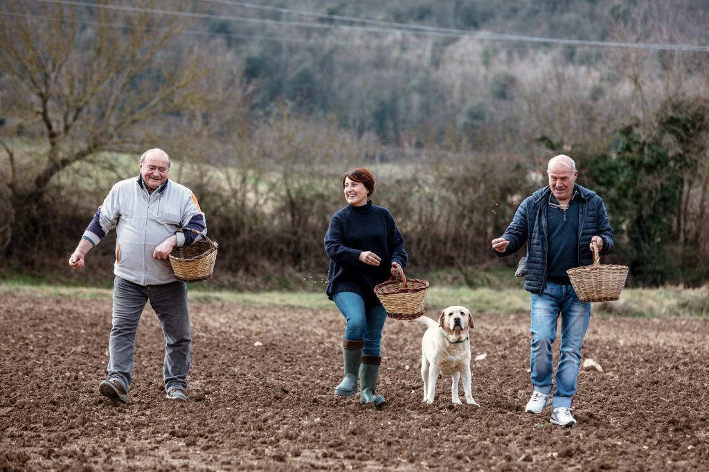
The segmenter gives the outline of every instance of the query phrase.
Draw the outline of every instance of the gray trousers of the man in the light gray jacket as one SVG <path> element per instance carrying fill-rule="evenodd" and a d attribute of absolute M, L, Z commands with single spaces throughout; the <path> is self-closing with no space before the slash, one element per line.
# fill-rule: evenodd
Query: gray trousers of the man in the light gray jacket
<path fill-rule="evenodd" d="M 108 379 L 120 382 L 126 392 L 130 388 L 135 332 L 148 300 L 165 338 L 162 364 L 165 391 L 176 388 L 185 390 L 192 338 L 187 286 L 180 281 L 143 286 L 116 276 L 113 281 L 113 327 L 108 340 Z"/>

